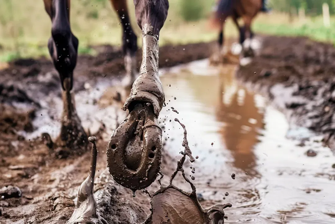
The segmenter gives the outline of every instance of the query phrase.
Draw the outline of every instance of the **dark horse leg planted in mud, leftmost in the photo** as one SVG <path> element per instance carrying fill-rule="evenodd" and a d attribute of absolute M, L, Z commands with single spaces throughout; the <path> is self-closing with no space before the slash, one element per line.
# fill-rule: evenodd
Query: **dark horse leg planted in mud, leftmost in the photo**
<path fill-rule="evenodd" d="M 60 76 L 63 98 L 62 126 L 56 140 L 56 154 L 66 157 L 73 151 L 82 151 L 88 143 L 70 92 L 77 63 L 78 39 L 70 27 L 70 0 L 44 0 L 44 5 L 52 21 L 48 49 Z"/>

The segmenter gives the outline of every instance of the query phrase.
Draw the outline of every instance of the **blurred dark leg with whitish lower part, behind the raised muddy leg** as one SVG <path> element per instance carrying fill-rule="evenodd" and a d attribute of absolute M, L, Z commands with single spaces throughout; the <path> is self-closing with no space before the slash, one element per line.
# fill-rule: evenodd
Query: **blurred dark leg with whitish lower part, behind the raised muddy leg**
<path fill-rule="evenodd" d="M 126 0 L 110 0 L 122 24 L 122 50 L 125 58 L 126 78 L 124 83 L 131 87 L 135 81 L 137 36 L 130 25 Z"/>

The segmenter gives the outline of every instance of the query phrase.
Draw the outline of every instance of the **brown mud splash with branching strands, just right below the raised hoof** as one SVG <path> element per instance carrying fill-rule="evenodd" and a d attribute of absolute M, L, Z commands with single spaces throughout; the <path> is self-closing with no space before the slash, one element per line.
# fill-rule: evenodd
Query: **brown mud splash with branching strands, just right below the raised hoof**
<path fill-rule="evenodd" d="M 186 155 L 190 162 L 194 162 L 192 152 L 188 146 L 187 131 L 177 118 L 175 118 L 184 129 L 184 139 L 182 145 L 185 150 L 183 157 L 177 162 L 177 169 L 170 178 L 170 184 L 161 187 L 150 196 L 151 214 L 142 224 L 221 224 L 228 217 L 224 215 L 224 209 L 231 207 L 230 203 L 215 205 L 210 209 L 203 209 L 198 201 L 195 185 L 186 177 L 184 172 L 184 162 Z M 185 192 L 172 184 L 177 173 L 181 172 L 184 179 L 191 185 L 192 192 Z"/>

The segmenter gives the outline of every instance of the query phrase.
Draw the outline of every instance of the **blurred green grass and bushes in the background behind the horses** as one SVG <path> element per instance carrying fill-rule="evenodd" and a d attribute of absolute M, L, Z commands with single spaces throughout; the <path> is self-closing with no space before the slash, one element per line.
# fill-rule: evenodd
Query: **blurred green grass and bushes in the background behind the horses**
<path fill-rule="evenodd" d="M 131 23 L 138 36 L 141 34 L 134 18 L 133 0 L 127 0 Z M 335 0 L 268 0 L 273 12 L 260 13 L 253 29 L 258 33 L 276 35 L 304 35 L 319 41 L 335 40 L 335 23 L 325 27 L 322 4 L 329 4 L 335 13 Z M 160 32 L 159 44 L 186 44 L 212 41 L 217 31 L 208 25 L 216 0 L 169 0 L 168 17 Z M 51 21 L 43 0 L 0 0 L 0 61 L 17 57 L 49 57 L 47 42 Z M 298 16 L 304 9 L 306 18 Z M 92 45 L 121 44 L 122 26 L 109 0 L 71 0 L 71 27 L 79 39 L 79 53 L 94 54 Z M 225 36 L 237 36 L 238 31 L 229 19 Z M 141 38 L 138 38 L 141 46 Z"/>

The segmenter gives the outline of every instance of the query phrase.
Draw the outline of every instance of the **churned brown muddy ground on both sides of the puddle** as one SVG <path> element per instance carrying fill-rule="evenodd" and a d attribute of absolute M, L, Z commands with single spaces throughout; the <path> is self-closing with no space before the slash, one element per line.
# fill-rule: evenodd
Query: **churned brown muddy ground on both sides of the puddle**
<path fill-rule="evenodd" d="M 325 141 L 335 149 L 333 112 L 335 110 L 335 49 L 305 38 L 263 36 L 260 54 L 248 66 L 241 67 L 238 78 L 267 94 L 291 124 L 325 134 Z M 159 66 L 171 67 L 208 58 L 215 42 L 160 48 Z M 124 60 L 118 48 L 96 47 L 98 55 L 80 56 L 75 70 L 74 92 L 95 86 L 98 81 L 119 80 Z M 140 65 L 138 52 L 138 64 Z M 139 67 L 139 66 L 138 66 Z M 74 210 L 78 186 L 87 177 L 90 153 L 68 159 L 51 155 L 41 138 L 29 139 L 25 133 L 37 129 L 33 125 L 41 108 L 55 122 L 60 114 L 53 111 L 53 100 L 61 97 L 60 83 L 51 61 L 21 59 L 0 71 L 0 189 L 15 186 L 14 194 L 0 199 L 0 223 L 65 223 Z M 46 100 L 48 99 L 48 104 Z M 89 101 L 96 104 L 97 101 Z M 57 105 L 55 103 L 55 105 Z M 121 111 L 120 106 L 118 109 Z M 123 120 L 124 114 L 115 119 Z M 92 132 L 97 137 L 98 165 L 95 191 L 110 195 L 97 200 L 107 207 L 113 223 L 140 223 L 149 214 L 149 198 L 140 192 L 131 197 L 130 190 L 115 184 L 103 171 L 106 167 L 106 127 Z M 117 122 L 116 122 L 117 123 Z M 164 148 L 164 147 L 163 147 Z M 163 173 L 171 175 L 177 159 L 163 149 Z M 109 182 L 110 184 L 106 184 Z M 165 182 L 166 183 L 166 182 Z M 158 184 L 154 183 L 153 188 Z M 99 193 L 99 192 L 97 192 Z M 5 199 L 6 197 L 6 199 Z M 204 207 L 210 202 L 201 202 Z M 131 217 L 131 218 L 129 218 Z"/>

